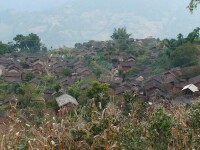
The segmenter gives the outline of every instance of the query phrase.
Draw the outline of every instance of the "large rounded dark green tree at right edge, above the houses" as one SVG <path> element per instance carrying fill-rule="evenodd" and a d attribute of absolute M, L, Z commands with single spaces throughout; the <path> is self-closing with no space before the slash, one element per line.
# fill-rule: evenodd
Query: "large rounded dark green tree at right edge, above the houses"
<path fill-rule="evenodd" d="M 173 51 L 172 65 L 174 67 L 186 67 L 198 63 L 199 50 L 195 45 L 184 44 Z"/>

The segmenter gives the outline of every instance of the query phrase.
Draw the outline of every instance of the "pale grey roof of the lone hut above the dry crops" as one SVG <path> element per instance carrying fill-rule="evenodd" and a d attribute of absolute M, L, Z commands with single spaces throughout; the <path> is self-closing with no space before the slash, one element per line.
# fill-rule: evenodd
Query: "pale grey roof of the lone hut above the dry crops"
<path fill-rule="evenodd" d="M 75 105 L 78 105 L 78 102 L 76 101 L 76 99 L 68 94 L 63 94 L 63 95 L 57 97 L 56 102 L 59 107 L 62 107 L 68 103 L 73 103 Z"/>

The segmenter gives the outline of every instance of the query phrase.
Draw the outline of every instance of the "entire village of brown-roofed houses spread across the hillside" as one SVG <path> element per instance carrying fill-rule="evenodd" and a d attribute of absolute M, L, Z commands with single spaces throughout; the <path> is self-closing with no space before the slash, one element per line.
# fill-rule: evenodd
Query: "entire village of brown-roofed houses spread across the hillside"
<path fill-rule="evenodd" d="M 145 41 L 152 42 L 155 39 L 152 37 L 141 40 L 129 39 L 128 42 L 142 46 Z M 109 45 L 109 41 L 89 41 L 79 44 L 70 51 L 70 58 L 67 58 L 62 50 L 34 54 L 26 52 L 4 54 L 0 57 L 0 75 L 3 80 L 10 83 L 30 83 L 35 86 L 41 84 L 41 77 L 44 75 L 55 78 L 60 88 L 56 91 L 54 88 L 45 87 L 43 99 L 48 101 L 52 97 L 59 99 L 60 96 L 65 96 L 66 98 L 62 102 L 57 101 L 60 108 L 63 106 L 71 107 L 70 103 L 78 105 L 77 101 L 79 100 L 69 100 L 68 87 L 77 81 L 90 77 L 95 77 L 101 83 L 108 84 L 112 95 L 123 96 L 124 93 L 130 92 L 138 99 L 151 104 L 159 102 L 191 103 L 198 98 L 200 74 L 198 72 L 192 74 L 191 72 L 198 70 L 199 66 L 175 67 L 159 74 L 150 74 L 148 66 L 141 66 L 137 73 L 125 78 L 120 72 L 127 72 L 135 67 L 136 57 L 127 52 L 109 54 L 109 52 L 103 51 L 103 49 L 108 49 Z M 111 69 L 96 63 L 95 56 L 98 55 L 99 51 L 103 51 L 104 57 L 111 59 Z M 149 51 L 149 59 L 155 60 L 158 58 L 158 52 L 161 51 L 161 48 L 154 45 L 150 47 Z M 88 59 L 90 62 L 92 60 L 93 65 L 96 65 L 100 73 L 94 72 L 95 70 L 86 61 Z M 88 86 L 85 83 L 81 88 L 84 90 Z M 56 94 L 57 92 L 59 94 Z M 15 97 L 15 95 L 9 95 L 1 100 L 1 104 L 16 102 Z"/>

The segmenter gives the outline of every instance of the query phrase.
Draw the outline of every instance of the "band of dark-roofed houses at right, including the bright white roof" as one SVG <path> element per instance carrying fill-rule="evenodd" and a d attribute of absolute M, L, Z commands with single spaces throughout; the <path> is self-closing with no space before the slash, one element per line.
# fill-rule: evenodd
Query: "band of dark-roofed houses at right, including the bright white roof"
<path fill-rule="evenodd" d="M 183 99 L 188 97 L 192 99 L 199 96 L 200 89 L 200 75 L 188 78 L 181 68 L 173 68 L 153 76 L 134 76 L 124 82 L 112 81 L 102 80 L 111 85 L 116 95 L 132 91 L 140 98 L 149 101 L 159 99 L 176 101 L 180 96 Z"/>

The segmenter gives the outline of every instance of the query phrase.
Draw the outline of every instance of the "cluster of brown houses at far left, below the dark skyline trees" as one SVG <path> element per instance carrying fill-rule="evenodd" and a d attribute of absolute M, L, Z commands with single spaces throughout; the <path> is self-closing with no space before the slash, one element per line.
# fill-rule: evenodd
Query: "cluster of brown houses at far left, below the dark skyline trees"
<path fill-rule="evenodd" d="M 0 56 L 0 76 L 9 82 L 26 81 L 27 73 L 42 74 L 49 58 L 41 54 L 11 53 Z"/>

